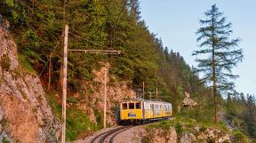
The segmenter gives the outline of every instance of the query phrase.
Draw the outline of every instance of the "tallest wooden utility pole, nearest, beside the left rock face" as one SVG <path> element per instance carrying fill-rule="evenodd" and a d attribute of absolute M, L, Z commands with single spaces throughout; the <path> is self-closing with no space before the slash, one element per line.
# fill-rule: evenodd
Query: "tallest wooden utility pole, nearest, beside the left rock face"
<path fill-rule="evenodd" d="M 64 31 L 64 55 L 63 55 L 63 85 L 62 85 L 62 120 L 61 143 L 65 143 L 66 137 L 66 99 L 67 99 L 67 68 L 68 68 L 68 25 Z"/>

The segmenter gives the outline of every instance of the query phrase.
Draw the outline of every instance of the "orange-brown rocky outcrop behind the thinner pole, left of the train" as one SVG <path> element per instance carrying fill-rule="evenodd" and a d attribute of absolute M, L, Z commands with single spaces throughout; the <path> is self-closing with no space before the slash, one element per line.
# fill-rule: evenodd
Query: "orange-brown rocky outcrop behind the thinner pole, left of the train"
<path fill-rule="evenodd" d="M 108 63 L 101 63 L 103 66 L 100 70 L 93 70 L 95 78 L 92 83 L 84 83 L 84 89 L 91 89 L 92 92 L 88 93 L 84 99 L 86 102 L 79 102 L 78 106 L 86 115 L 89 115 L 92 123 L 96 122 L 96 115 L 94 110 L 98 110 L 100 115 L 104 111 L 104 82 L 105 71 L 107 72 L 107 123 L 108 125 L 115 125 L 118 120 L 118 107 L 119 103 L 124 99 L 132 99 L 136 97 L 135 91 L 129 83 L 109 83 L 108 70 L 110 65 Z"/>

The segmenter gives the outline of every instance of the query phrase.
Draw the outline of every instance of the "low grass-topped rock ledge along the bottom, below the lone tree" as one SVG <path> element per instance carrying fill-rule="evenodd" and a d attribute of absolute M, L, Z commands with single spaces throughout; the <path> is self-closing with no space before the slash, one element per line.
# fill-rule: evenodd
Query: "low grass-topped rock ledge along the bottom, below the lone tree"
<path fill-rule="evenodd" d="M 174 119 L 175 120 L 175 119 Z M 149 125 L 150 126 L 150 125 Z M 171 125 L 168 128 L 165 126 L 151 125 L 150 128 L 146 128 L 146 133 L 142 138 L 144 142 L 158 142 L 158 143 L 228 143 L 231 142 L 230 135 L 226 131 L 220 131 L 217 128 L 206 128 L 204 126 L 187 125 Z M 182 127 L 183 126 L 183 127 Z M 194 127 L 192 127 L 194 126 Z M 153 128 L 152 128 L 153 127 Z M 177 131 L 177 133 L 176 133 Z"/>

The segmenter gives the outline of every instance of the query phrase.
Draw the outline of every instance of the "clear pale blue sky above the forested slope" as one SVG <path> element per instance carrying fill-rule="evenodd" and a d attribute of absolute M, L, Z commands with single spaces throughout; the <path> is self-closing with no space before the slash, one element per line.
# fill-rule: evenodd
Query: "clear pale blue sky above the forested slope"
<path fill-rule="evenodd" d="M 204 12 L 216 4 L 231 22 L 232 37 L 242 39 L 244 60 L 234 68 L 236 91 L 256 95 L 256 0 L 140 0 L 140 16 L 148 29 L 161 37 L 164 46 L 180 52 L 188 65 L 196 67 L 192 52 L 198 50 L 196 30 Z"/>

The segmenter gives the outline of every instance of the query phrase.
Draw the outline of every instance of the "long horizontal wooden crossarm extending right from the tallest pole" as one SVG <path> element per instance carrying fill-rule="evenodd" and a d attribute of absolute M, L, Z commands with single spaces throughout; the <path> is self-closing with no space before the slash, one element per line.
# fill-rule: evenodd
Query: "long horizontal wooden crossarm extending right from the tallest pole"
<path fill-rule="evenodd" d="M 95 53 L 95 54 L 121 54 L 120 51 L 110 51 L 110 50 L 83 50 L 83 49 L 68 49 L 68 52 L 85 52 L 85 53 Z"/>

